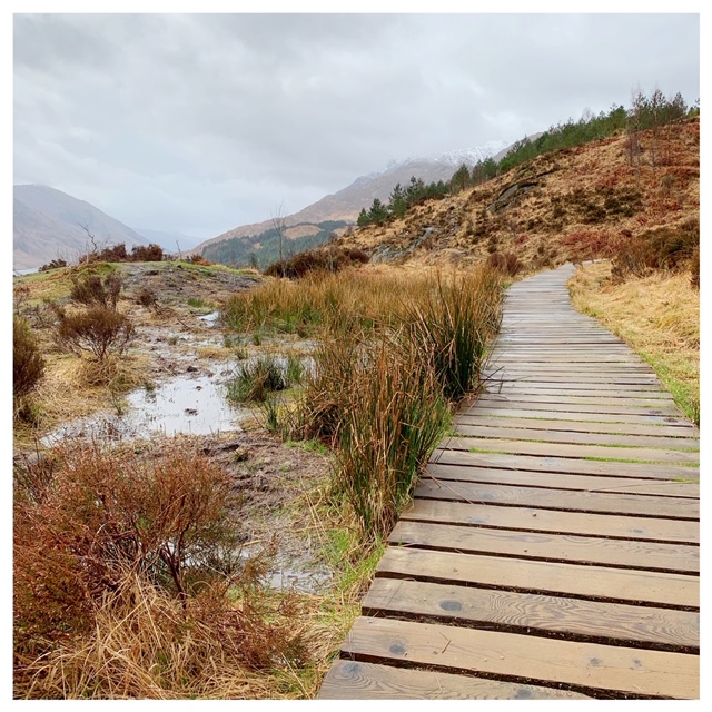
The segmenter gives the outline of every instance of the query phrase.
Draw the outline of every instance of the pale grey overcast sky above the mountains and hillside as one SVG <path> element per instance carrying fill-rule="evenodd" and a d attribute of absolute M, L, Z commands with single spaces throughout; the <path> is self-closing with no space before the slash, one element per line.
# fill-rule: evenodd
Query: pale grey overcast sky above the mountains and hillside
<path fill-rule="evenodd" d="M 14 182 L 200 238 L 390 159 L 700 96 L 696 14 L 16 14 Z"/>

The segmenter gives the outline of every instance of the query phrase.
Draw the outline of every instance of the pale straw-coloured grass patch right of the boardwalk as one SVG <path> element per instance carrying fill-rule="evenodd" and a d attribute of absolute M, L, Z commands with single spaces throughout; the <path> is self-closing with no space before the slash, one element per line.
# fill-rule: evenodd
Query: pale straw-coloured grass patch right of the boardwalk
<path fill-rule="evenodd" d="M 660 271 L 610 281 L 595 263 L 570 283 L 574 306 L 596 317 L 647 360 L 685 415 L 700 421 L 700 293 L 689 273 Z"/>

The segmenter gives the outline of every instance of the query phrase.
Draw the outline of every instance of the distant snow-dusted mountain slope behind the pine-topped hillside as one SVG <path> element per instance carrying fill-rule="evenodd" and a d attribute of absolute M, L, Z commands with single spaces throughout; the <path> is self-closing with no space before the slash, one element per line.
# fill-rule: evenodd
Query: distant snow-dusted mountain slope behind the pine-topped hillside
<path fill-rule="evenodd" d="M 478 160 L 503 156 L 508 147 L 507 141 L 490 141 L 484 146 L 449 151 L 435 157 L 411 157 L 400 161 L 390 161 L 383 170 L 360 176 L 338 192 L 325 196 L 299 212 L 285 216 L 285 224 L 288 227 L 312 225 L 315 226 L 314 233 L 316 233 L 319 229 L 317 226 L 322 222 L 342 220 L 355 222 L 362 208 L 368 208 L 374 198 L 387 201 L 396 184 L 405 186 L 412 176 L 422 178 L 426 184 L 438 180 L 446 182 L 463 162 L 472 167 Z M 201 243 L 195 251 L 202 254 L 206 246 L 231 238 L 257 237 L 273 227 L 271 219 L 243 225 Z M 290 237 L 289 230 L 287 237 Z"/>

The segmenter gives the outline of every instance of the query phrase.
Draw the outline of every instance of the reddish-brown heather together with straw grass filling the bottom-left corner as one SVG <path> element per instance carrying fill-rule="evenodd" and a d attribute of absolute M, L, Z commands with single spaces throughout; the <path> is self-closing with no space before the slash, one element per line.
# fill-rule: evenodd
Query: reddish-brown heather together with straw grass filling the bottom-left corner
<path fill-rule="evenodd" d="M 264 698 L 313 664 L 296 594 L 266 594 L 274 544 L 239 556 L 229 475 L 146 446 L 16 467 L 16 698 Z"/>

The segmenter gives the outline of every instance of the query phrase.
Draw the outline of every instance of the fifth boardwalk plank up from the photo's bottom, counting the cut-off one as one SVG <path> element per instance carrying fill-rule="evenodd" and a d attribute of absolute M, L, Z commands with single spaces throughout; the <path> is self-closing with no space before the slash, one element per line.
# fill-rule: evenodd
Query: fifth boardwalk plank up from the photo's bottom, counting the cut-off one
<path fill-rule="evenodd" d="M 620 538 L 490 530 L 400 520 L 388 536 L 394 545 L 552 562 L 596 564 L 696 575 L 699 546 Z"/>

